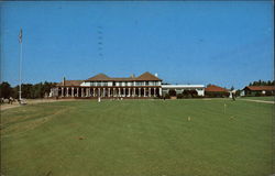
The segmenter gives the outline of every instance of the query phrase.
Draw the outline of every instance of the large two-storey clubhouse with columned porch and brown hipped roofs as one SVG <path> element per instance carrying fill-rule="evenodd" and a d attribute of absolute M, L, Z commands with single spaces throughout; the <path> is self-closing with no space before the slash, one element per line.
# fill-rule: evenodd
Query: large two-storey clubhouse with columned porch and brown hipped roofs
<path fill-rule="evenodd" d="M 139 77 L 113 78 L 99 74 L 86 80 L 65 80 L 51 90 L 58 98 L 154 98 L 162 96 L 162 79 L 144 73 Z"/>

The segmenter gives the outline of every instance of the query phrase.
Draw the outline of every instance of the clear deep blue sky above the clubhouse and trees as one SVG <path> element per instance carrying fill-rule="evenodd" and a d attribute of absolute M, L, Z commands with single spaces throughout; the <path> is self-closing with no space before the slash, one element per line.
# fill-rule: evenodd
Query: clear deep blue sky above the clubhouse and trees
<path fill-rule="evenodd" d="M 1 2 L 1 81 L 157 73 L 169 84 L 243 88 L 274 79 L 272 1 Z"/>

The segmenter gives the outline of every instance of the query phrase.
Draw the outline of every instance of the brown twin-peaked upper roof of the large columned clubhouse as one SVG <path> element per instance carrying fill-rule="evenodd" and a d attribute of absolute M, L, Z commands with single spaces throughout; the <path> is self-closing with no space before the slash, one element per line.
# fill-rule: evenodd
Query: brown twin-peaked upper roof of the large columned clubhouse
<path fill-rule="evenodd" d="M 144 80 L 162 80 L 160 78 L 157 78 L 156 76 L 150 74 L 148 72 L 142 74 L 139 77 L 121 77 L 121 78 L 114 78 L 114 77 L 108 77 L 105 74 L 98 74 L 94 77 L 88 78 L 86 81 L 133 81 L 133 80 L 140 80 L 140 81 L 144 81 Z"/>

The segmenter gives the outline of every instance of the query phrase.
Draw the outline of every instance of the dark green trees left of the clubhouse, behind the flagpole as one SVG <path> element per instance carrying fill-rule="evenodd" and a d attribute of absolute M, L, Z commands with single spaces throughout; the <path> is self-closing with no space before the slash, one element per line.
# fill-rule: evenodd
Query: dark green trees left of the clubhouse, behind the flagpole
<path fill-rule="evenodd" d="M 22 84 L 21 91 L 22 98 L 44 98 L 48 96 L 51 88 L 55 87 L 56 82 L 38 82 L 35 85 L 32 84 Z M 9 82 L 3 81 L 0 84 L 0 98 L 19 98 L 19 86 L 11 87 Z"/>

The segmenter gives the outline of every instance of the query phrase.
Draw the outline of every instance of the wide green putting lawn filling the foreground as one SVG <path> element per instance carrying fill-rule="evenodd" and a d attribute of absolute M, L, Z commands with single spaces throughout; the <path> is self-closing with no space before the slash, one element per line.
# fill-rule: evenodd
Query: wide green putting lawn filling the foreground
<path fill-rule="evenodd" d="M 272 117 L 273 105 L 222 99 L 24 106 L 1 112 L 1 174 L 268 176 Z"/>

